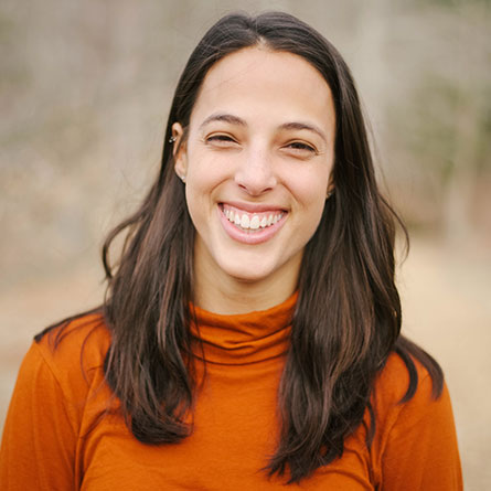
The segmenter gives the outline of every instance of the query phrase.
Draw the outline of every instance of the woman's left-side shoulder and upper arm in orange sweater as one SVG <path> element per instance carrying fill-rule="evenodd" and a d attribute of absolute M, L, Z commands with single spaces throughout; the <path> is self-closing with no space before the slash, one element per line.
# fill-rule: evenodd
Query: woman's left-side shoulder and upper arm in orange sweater
<path fill-rule="evenodd" d="M 33 484 L 19 489 L 39 489 L 47 481 L 63 481 L 46 484 L 50 489 L 68 489 L 75 482 L 77 440 L 105 414 L 110 397 L 104 377 L 109 342 L 103 317 L 94 313 L 35 337 L 20 366 L 4 424 L 3 479 Z"/>

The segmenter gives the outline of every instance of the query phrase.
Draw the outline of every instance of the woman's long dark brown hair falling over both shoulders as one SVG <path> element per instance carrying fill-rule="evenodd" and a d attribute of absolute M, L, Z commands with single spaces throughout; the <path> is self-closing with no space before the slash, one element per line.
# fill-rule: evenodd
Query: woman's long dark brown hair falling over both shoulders
<path fill-rule="evenodd" d="M 375 431 L 370 397 L 391 352 L 402 356 L 409 372 L 404 401 L 417 387 L 414 357 L 429 371 L 435 397 L 442 374 L 428 354 L 399 334 L 394 241 L 401 221 L 377 189 L 350 70 L 332 44 L 295 17 L 226 15 L 191 54 L 170 109 L 159 177 L 140 209 L 104 245 L 108 289 L 100 310 L 111 331 L 105 373 L 138 440 L 166 444 L 190 435 L 185 417 L 195 388 L 189 332 L 194 227 L 169 139 L 173 122 L 189 125 L 211 66 L 257 44 L 313 65 L 332 90 L 337 116 L 335 192 L 303 254 L 279 386 L 280 441 L 266 467 L 280 476 L 288 469 L 289 482 L 298 482 L 342 455 L 345 437 L 366 410 L 372 415 L 370 445 Z M 125 246 L 111 265 L 109 247 L 122 232 Z"/>

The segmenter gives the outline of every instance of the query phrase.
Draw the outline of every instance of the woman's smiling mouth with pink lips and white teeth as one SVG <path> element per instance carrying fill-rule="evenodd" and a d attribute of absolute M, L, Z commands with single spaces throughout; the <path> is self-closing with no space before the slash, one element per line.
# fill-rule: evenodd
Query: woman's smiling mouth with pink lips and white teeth
<path fill-rule="evenodd" d="M 275 206 L 247 205 L 244 210 L 228 203 L 218 205 L 222 225 L 228 235 L 244 244 L 260 244 L 269 241 L 281 228 L 288 213 Z M 259 211 L 260 210 L 260 211 Z"/>

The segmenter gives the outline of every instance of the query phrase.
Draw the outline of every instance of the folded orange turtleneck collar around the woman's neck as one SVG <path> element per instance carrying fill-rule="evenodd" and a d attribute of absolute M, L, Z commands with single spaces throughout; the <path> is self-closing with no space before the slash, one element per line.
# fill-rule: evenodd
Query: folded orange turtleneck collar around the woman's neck
<path fill-rule="evenodd" d="M 194 343 L 194 355 L 206 363 L 244 365 L 281 356 L 288 350 L 291 319 L 298 292 L 267 310 L 233 316 L 209 312 L 192 307 L 198 327 L 191 323 L 191 334 L 201 339 Z"/>

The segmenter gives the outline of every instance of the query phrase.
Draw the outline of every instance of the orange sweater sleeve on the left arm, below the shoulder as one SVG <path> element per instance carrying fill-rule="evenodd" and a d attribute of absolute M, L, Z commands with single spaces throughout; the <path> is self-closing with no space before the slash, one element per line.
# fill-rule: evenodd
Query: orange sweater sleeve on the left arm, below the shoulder
<path fill-rule="evenodd" d="M 6 419 L 0 489 L 75 489 L 76 439 L 74 408 L 33 343 L 22 362 Z"/>

